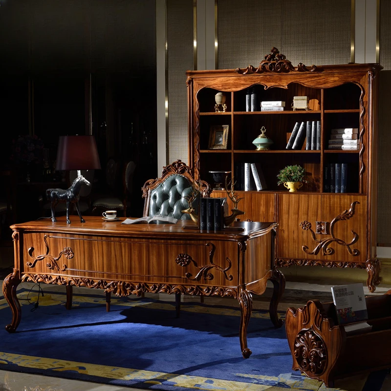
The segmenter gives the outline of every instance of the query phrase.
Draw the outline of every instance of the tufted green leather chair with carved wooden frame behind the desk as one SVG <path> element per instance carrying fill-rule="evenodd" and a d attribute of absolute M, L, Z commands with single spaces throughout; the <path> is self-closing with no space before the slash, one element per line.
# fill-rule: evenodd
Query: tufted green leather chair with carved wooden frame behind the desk
<path fill-rule="evenodd" d="M 163 168 L 160 178 L 148 180 L 143 188 L 145 198 L 143 216 L 170 216 L 177 219 L 190 219 L 190 215 L 181 211 L 189 207 L 188 197 L 193 191 L 192 170 L 181 160 Z M 212 189 L 205 181 L 200 181 L 200 196 L 208 197 Z M 198 200 L 193 202 L 196 208 Z M 110 309 L 110 292 L 106 293 L 106 309 Z M 201 303 L 203 296 L 201 296 Z M 180 293 L 175 293 L 176 314 L 179 316 Z"/>

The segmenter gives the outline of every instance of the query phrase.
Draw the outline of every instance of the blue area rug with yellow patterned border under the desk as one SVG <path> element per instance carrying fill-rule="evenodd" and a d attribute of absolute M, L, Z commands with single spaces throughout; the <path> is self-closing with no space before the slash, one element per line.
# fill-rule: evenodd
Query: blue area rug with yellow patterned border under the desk
<path fill-rule="evenodd" d="M 265 311 L 253 311 L 244 359 L 239 345 L 238 308 L 185 302 L 175 318 L 174 303 L 20 291 L 22 321 L 5 331 L 11 311 L 0 300 L 0 369 L 40 373 L 161 391 L 333 390 L 292 371 L 284 327 L 273 327 Z M 35 296 L 35 297 L 32 297 Z M 362 390 L 367 376 L 359 380 Z M 373 390 L 376 391 L 376 390 Z"/>

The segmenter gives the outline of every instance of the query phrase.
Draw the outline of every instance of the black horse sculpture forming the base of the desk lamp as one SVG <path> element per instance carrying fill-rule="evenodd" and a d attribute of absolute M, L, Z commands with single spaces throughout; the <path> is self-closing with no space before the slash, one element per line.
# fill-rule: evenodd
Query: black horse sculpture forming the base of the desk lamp
<path fill-rule="evenodd" d="M 80 198 L 80 188 L 82 184 L 85 183 L 87 186 L 91 186 L 91 184 L 87 181 L 87 179 L 80 175 L 78 176 L 72 183 L 69 189 L 47 189 L 46 190 L 46 198 L 51 202 L 50 210 L 52 212 L 52 221 L 56 222 L 56 216 L 54 215 L 54 210 L 56 209 L 57 204 L 60 202 L 66 202 L 66 223 L 70 224 L 69 220 L 69 206 L 71 203 L 75 204 L 77 213 L 80 217 L 80 222 L 85 223 L 86 220 L 82 217 L 82 214 L 79 210 L 79 198 Z"/>

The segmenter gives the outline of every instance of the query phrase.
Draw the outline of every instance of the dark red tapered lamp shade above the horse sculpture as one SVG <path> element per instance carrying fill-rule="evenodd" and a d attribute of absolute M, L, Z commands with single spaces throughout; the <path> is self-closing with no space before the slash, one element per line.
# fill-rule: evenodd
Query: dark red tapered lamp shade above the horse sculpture
<path fill-rule="evenodd" d="M 94 136 L 60 136 L 56 170 L 99 170 Z"/>

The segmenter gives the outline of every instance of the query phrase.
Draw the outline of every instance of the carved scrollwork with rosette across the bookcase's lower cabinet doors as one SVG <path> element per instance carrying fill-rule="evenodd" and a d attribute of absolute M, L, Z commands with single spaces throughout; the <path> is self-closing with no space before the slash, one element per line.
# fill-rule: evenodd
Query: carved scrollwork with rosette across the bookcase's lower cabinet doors
<path fill-rule="evenodd" d="M 336 238 L 334 236 L 334 225 L 335 225 L 335 223 L 337 223 L 338 221 L 342 221 L 342 220 L 348 220 L 351 217 L 353 217 L 354 216 L 355 205 L 359 204 L 359 203 L 360 202 L 358 202 L 358 201 L 352 202 L 351 205 L 350 205 L 350 209 L 349 210 L 343 211 L 341 214 L 339 214 L 337 217 L 335 217 L 330 222 L 329 235 L 331 236 L 331 238 L 317 239 L 315 232 L 311 228 L 311 223 L 309 223 L 308 221 L 301 222 L 300 223 L 300 227 L 304 231 L 309 231 L 311 233 L 312 239 L 314 241 L 316 241 L 317 243 L 319 243 L 312 251 L 309 251 L 308 246 L 303 245 L 302 248 L 303 248 L 304 253 L 317 255 L 319 253 L 319 251 L 322 250 L 322 254 L 323 255 L 332 255 L 332 254 L 334 254 L 335 250 L 333 248 L 329 247 L 329 245 L 331 243 L 335 242 L 335 243 L 337 243 L 337 244 L 339 244 L 341 246 L 345 246 L 346 249 L 348 250 L 348 253 L 350 255 L 352 255 L 353 257 L 356 257 L 356 256 L 360 255 L 360 251 L 359 250 L 357 250 L 355 248 L 351 249 L 351 246 L 354 243 L 356 243 L 357 240 L 359 239 L 359 236 L 358 236 L 358 234 L 356 232 L 354 232 L 353 230 L 350 231 L 353 234 L 353 239 L 349 243 L 346 243 L 344 240 L 338 239 L 338 238 Z"/>

